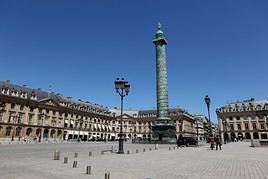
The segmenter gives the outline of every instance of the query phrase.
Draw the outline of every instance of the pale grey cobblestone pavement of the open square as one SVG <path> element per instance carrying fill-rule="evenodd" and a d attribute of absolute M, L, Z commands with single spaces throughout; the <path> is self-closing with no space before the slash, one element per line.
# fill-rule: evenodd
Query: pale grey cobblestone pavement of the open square
<path fill-rule="evenodd" d="M 110 179 L 268 179 L 268 148 L 249 147 L 246 142 L 226 144 L 221 151 L 211 151 L 206 145 L 175 150 L 171 145 L 159 145 L 154 150 L 154 145 L 126 144 L 126 154 L 101 155 L 101 150 L 117 145 L 0 144 L 0 178 L 103 179 L 105 172 L 110 172 Z M 61 151 L 60 160 L 53 160 L 56 149 Z M 78 158 L 74 158 L 75 152 Z M 68 157 L 68 164 L 63 164 L 63 157 Z M 74 160 L 77 168 L 72 166 Z M 91 175 L 85 174 L 87 165 L 92 167 Z"/>

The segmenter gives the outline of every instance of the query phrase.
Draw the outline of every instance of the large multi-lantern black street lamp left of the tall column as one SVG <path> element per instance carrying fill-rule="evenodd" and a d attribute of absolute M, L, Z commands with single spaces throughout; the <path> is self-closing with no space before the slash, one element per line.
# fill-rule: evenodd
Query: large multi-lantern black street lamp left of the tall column
<path fill-rule="evenodd" d="M 120 134 L 119 134 L 119 150 L 118 154 L 124 153 L 124 138 L 123 138 L 123 99 L 129 93 L 130 85 L 124 78 L 117 78 L 114 82 L 116 92 L 121 97 L 121 120 L 120 120 Z"/>

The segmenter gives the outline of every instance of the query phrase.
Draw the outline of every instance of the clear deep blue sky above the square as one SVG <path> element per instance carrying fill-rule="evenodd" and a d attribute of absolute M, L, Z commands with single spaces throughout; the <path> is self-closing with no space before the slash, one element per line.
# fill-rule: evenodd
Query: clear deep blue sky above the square
<path fill-rule="evenodd" d="M 153 36 L 168 45 L 169 106 L 207 114 L 227 101 L 267 99 L 267 0 L 0 1 L 0 80 L 120 105 L 156 106 Z"/>

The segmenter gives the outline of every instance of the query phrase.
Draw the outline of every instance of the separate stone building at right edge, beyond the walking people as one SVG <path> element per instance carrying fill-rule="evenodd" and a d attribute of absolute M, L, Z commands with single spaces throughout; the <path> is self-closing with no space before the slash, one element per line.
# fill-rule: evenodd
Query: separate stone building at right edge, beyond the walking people
<path fill-rule="evenodd" d="M 224 141 L 267 139 L 268 100 L 227 103 L 216 110 Z"/>

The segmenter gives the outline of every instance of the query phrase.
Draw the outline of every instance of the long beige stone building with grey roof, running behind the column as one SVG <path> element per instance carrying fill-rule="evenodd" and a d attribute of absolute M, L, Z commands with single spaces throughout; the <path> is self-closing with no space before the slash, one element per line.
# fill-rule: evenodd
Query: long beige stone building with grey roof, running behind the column
<path fill-rule="evenodd" d="M 0 82 L 0 141 L 58 142 L 117 140 L 120 110 L 108 109 L 59 93 Z M 170 109 L 176 134 L 193 136 L 194 118 L 180 108 Z M 126 140 L 151 140 L 156 110 L 124 110 Z"/>

